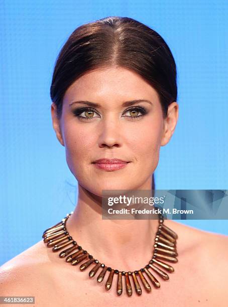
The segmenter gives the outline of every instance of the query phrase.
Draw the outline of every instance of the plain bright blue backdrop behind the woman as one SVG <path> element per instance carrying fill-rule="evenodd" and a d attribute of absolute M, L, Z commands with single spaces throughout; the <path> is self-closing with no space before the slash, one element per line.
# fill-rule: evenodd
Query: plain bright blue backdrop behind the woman
<path fill-rule="evenodd" d="M 179 120 L 161 147 L 157 189 L 227 189 L 227 1 L 1 1 L 0 264 L 74 209 L 77 182 L 52 128 L 49 89 L 75 28 L 131 17 L 169 45 Z M 178 221 L 228 234 L 228 221 Z"/>

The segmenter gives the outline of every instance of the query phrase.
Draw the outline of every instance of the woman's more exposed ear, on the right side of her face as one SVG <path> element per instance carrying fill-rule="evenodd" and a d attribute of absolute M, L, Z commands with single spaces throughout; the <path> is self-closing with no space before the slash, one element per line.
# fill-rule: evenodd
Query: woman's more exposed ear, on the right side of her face
<path fill-rule="evenodd" d="M 164 119 L 164 130 L 161 140 L 161 146 L 166 145 L 171 139 L 178 119 L 179 106 L 176 101 L 172 102 L 167 111 L 167 117 Z"/>

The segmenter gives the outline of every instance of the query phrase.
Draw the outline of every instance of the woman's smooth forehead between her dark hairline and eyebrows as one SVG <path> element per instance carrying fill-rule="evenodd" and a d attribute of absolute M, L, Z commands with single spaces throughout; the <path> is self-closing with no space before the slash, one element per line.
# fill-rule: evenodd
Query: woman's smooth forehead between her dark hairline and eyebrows
<path fill-rule="evenodd" d="M 136 72 L 123 67 L 110 67 L 89 71 L 77 79 L 67 89 L 63 102 L 75 99 L 94 102 L 105 99 L 105 102 L 115 100 L 115 103 L 130 99 L 152 99 L 158 102 L 159 96 Z"/>

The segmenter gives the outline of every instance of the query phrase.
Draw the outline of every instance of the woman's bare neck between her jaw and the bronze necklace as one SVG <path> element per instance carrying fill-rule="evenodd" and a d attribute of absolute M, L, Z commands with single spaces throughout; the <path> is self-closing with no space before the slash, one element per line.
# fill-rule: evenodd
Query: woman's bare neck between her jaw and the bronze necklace
<path fill-rule="evenodd" d="M 73 239 L 94 259 L 133 271 L 151 259 L 158 220 L 102 220 L 101 198 L 78 185 L 78 202 L 66 223 Z"/>

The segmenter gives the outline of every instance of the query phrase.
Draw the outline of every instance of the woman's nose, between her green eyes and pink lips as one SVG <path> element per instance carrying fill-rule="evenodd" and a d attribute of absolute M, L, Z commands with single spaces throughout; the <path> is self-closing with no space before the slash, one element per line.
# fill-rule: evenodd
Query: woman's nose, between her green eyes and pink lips
<path fill-rule="evenodd" d="M 98 145 L 99 147 L 120 147 L 122 145 L 123 131 L 117 119 L 103 120 L 100 125 Z"/>

